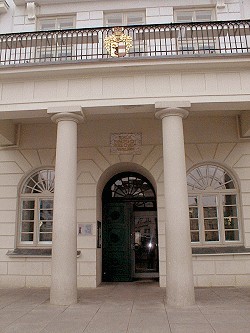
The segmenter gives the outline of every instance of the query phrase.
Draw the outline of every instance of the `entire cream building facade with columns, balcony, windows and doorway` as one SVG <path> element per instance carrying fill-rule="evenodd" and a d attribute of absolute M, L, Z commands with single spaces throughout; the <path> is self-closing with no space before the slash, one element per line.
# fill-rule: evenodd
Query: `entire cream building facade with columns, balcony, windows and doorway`
<path fill-rule="evenodd" d="M 1 287 L 250 285 L 249 12 L 0 1 Z"/>

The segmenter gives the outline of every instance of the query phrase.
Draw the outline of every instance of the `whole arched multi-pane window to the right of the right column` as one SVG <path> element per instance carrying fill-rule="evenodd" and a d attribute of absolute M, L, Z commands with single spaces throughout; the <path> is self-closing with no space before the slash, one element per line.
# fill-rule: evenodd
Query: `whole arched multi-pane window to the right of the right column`
<path fill-rule="evenodd" d="M 239 195 L 233 177 L 206 164 L 187 175 L 191 241 L 194 244 L 240 242 Z"/>

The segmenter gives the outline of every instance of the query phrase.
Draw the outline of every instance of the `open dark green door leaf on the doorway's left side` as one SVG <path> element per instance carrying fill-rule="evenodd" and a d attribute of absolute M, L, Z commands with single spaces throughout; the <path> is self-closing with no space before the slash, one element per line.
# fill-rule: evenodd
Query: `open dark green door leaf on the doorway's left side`
<path fill-rule="evenodd" d="M 103 219 L 103 281 L 131 281 L 130 210 L 126 203 L 106 204 Z"/>

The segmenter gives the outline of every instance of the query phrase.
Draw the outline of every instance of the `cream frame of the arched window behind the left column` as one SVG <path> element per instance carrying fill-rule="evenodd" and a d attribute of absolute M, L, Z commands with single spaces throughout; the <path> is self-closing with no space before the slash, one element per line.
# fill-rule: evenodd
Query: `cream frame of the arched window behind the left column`
<path fill-rule="evenodd" d="M 52 200 L 52 231 L 53 232 L 53 202 L 54 202 L 54 189 L 53 191 L 45 190 L 41 193 L 23 193 L 23 190 L 28 183 L 29 179 L 34 177 L 37 173 L 41 171 L 52 171 L 53 174 L 55 172 L 54 168 L 48 167 L 48 168 L 40 168 L 32 173 L 30 173 L 28 176 L 25 177 L 25 179 L 22 181 L 21 186 L 19 187 L 19 205 L 18 205 L 18 218 L 17 218 L 17 231 L 16 231 L 16 245 L 18 248 L 51 248 L 52 247 L 52 240 L 51 241 L 40 241 L 40 201 L 41 200 Z M 23 223 L 23 201 L 34 201 L 34 227 L 33 227 L 33 240 L 32 241 L 22 241 L 22 223 Z M 51 209 L 48 209 L 51 210 Z M 25 221 L 25 220 L 24 220 Z M 28 220 L 29 221 L 29 220 Z M 31 220 L 30 220 L 31 221 Z M 49 232 L 48 232 L 49 233 Z M 25 232 L 24 232 L 25 234 Z M 28 232 L 27 232 L 28 234 Z M 52 236 L 51 236 L 52 239 Z"/>

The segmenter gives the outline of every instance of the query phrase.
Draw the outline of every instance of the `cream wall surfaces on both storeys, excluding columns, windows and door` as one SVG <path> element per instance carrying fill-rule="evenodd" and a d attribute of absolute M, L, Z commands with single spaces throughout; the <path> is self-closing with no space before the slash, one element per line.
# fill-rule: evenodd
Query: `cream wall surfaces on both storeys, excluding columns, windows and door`
<path fill-rule="evenodd" d="M 24 6 L 11 8 L 1 16 L 0 29 L 6 31 L 36 30 L 36 21 L 28 20 Z M 178 5 L 195 6 L 197 1 L 178 1 Z M 201 0 L 199 5 L 215 6 L 216 2 Z M 226 0 L 217 8 L 219 20 L 239 19 L 244 15 L 239 0 Z M 126 1 L 126 8 L 146 9 L 147 23 L 173 21 L 176 1 Z M 121 10 L 117 1 L 79 2 L 37 7 L 37 17 L 47 15 L 76 15 L 77 27 L 103 25 L 103 13 Z M 8 18 L 8 20 L 7 20 Z M 8 21 L 8 25 L 5 23 Z M 3 27 L 4 25 L 4 27 Z M 3 29 L 2 29 L 3 28 Z M 8 30 L 6 30 L 8 29 Z M 48 108 L 80 105 L 87 121 L 78 127 L 77 222 L 93 225 L 92 236 L 78 236 L 78 286 L 95 287 L 101 282 L 101 250 L 96 249 L 96 221 L 101 220 L 101 192 L 105 181 L 115 172 L 137 170 L 145 173 L 155 185 L 158 203 L 158 232 L 160 255 L 160 284 L 165 286 L 165 214 L 161 123 L 154 119 L 154 104 L 159 100 L 188 100 L 192 104 L 190 117 L 184 121 L 187 170 L 198 163 L 214 162 L 227 167 L 235 175 L 241 190 L 243 243 L 250 247 L 250 142 L 239 140 L 236 117 L 249 101 L 250 71 L 240 57 L 239 65 L 220 57 L 211 61 L 196 58 L 194 62 L 171 60 L 124 61 L 94 66 L 41 66 L 1 71 L 0 117 L 20 119 L 42 117 L 34 124 L 21 126 L 20 144 L 0 150 L 0 286 L 49 286 L 50 259 L 10 258 L 6 252 L 16 246 L 18 220 L 18 188 L 23 177 L 32 170 L 55 163 L 56 125 L 44 123 Z M 241 67 L 240 67 L 241 66 Z M 116 67 L 116 68 L 115 68 Z M 56 69 L 57 68 L 57 69 Z M 14 93 L 13 93 L 14 92 Z M 210 103 L 214 103 L 209 109 Z M 217 104 L 216 104 L 217 103 Z M 239 110 L 235 109 L 238 103 Z M 234 107 L 231 108 L 231 105 Z M 124 109 L 117 106 L 141 105 L 137 116 L 123 118 Z M 145 111 L 147 106 L 152 109 Z M 206 107 L 208 109 L 206 109 Z M 216 105 L 223 105 L 220 117 L 214 114 Z M 98 118 L 105 107 L 109 118 Z M 109 110 L 109 107 L 114 107 Z M 228 109 L 227 109 L 228 108 Z M 128 113 L 129 108 L 125 109 Z M 221 111 L 221 110 L 218 110 Z M 246 111 L 247 112 L 247 111 Z M 147 113 L 147 114 L 146 114 Z M 196 115 L 197 114 L 197 115 Z M 222 115 L 226 116 L 222 116 Z M 97 115 L 96 118 L 92 118 Z M 146 116 L 145 116 L 146 115 Z M 18 122 L 18 120 L 17 120 Z M 29 119 L 29 122 L 32 122 Z M 143 136 L 139 155 L 111 155 L 111 133 L 135 133 Z M 94 133 L 94 135 L 93 135 Z M 250 283 L 249 255 L 194 256 L 194 280 L 197 286 L 244 285 Z"/>

